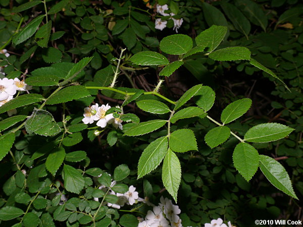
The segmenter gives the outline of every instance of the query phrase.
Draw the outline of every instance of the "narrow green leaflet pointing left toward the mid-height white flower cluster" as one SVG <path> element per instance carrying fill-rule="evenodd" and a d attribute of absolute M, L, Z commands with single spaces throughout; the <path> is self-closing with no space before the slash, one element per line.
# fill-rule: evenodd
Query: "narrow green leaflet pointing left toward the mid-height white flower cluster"
<path fill-rule="evenodd" d="M 124 136 L 139 136 L 160 129 L 167 123 L 166 120 L 150 120 L 138 123 L 124 133 Z"/>

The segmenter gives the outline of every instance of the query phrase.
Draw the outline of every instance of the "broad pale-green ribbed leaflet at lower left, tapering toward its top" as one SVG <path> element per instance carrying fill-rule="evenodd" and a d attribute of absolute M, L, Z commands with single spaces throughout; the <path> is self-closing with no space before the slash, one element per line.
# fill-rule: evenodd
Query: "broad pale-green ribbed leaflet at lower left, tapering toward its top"
<path fill-rule="evenodd" d="M 84 188 L 84 178 L 81 173 L 70 165 L 63 166 L 64 187 L 68 192 L 79 194 Z"/>

